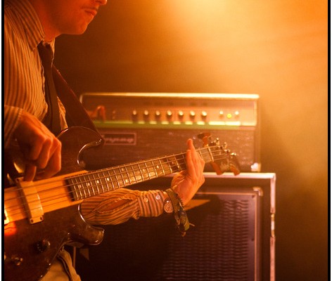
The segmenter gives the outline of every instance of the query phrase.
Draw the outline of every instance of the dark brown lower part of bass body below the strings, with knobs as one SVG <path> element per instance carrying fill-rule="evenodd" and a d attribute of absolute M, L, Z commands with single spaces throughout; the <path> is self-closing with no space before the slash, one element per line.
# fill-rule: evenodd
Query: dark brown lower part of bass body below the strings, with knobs
<path fill-rule="evenodd" d="M 102 240 L 103 229 L 89 226 L 78 205 L 48 212 L 44 221 L 33 225 L 27 219 L 16 221 L 13 228 L 5 229 L 5 280 L 39 280 L 64 244 L 99 244 Z"/>

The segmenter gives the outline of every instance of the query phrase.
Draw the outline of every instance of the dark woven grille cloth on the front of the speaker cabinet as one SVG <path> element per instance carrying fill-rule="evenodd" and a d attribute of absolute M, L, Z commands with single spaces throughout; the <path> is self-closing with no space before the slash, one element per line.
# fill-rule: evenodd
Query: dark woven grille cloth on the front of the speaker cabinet
<path fill-rule="evenodd" d="M 113 281 L 255 280 L 255 197 L 203 198 L 210 202 L 188 211 L 195 227 L 185 237 L 172 216 L 107 226 L 103 243 L 90 248 L 87 271 Z"/>

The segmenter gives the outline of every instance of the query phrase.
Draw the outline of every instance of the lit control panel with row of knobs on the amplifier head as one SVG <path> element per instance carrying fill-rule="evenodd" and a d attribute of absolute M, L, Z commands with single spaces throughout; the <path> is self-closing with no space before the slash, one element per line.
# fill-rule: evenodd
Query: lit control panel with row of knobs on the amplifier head
<path fill-rule="evenodd" d="M 84 93 L 80 99 L 102 122 L 257 125 L 255 94 Z"/>

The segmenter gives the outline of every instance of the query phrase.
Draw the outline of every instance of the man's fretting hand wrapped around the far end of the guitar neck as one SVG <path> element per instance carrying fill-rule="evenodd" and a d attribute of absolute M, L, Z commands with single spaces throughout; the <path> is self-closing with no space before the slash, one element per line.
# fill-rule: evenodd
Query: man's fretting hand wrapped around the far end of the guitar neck
<path fill-rule="evenodd" d="M 177 192 L 184 205 L 186 205 L 198 188 L 203 185 L 205 178 L 203 176 L 204 160 L 198 155 L 193 146 L 193 140 L 187 141 L 188 150 L 186 151 L 187 169 L 179 172 L 172 180 L 171 188 Z"/>

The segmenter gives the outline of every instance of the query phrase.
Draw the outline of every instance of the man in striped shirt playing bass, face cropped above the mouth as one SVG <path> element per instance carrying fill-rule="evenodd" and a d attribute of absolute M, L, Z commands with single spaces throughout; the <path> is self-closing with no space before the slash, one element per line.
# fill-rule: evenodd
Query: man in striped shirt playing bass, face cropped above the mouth
<path fill-rule="evenodd" d="M 61 143 L 45 120 L 51 109 L 45 95 L 44 67 L 38 45 L 51 46 L 60 34 L 82 34 L 107 0 L 6 0 L 4 5 L 4 145 L 18 143 L 25 162 L 24 180 L 49 178 L 61 169 Z M 58 100 L 60 127 L 65 129 L 65 108 Z M 89 223 L 122 223 L 129 218 L 159 216 L 173 195 L 187 204 L 204 182 L 204 161 L 188 141 L 187 170 L 172 181 L 169 192 L 125 188 L 91 197 L 82 203 Z M 173 191 L 172 191 L 173 190 Z M 173 193 L 172 193 L 173 192 Z M 172 195 L 172 196 L 171 196 Z M 179 203 L 179 204 L 180 204 Z M 79 280 L 61 250 L 43 280 Z M 32 265 L 33 267 L 33 265 Z M 33 268 L 32 268 L 33 270 Z"/>

